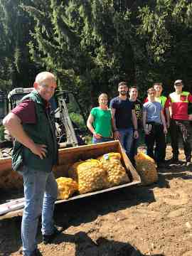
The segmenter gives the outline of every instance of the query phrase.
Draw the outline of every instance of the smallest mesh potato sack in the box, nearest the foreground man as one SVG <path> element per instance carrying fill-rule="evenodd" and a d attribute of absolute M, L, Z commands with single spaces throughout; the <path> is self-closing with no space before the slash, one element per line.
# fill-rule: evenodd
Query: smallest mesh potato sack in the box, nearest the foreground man
<path fill-rule="evenodd" d="M 68 199 L 75 191 L 78 191 L 78 183 L 72 178 L 60 177 L 58 183 L 58 199 Z"/>

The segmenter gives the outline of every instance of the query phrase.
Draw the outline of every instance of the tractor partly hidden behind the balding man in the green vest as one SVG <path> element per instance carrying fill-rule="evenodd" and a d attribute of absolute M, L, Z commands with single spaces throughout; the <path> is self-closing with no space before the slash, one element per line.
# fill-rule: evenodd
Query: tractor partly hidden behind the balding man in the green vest
<path fill-rule="evenodd" d="M 9 92 L 7 97 L 8 112 L 14 109 L 21 102 L 21 99 L 28 93 L 33 91 L 31 88 L 14 88 Z M 6 99 L 6 98 L 5 98 Z M 51 117 L 55 121 L 55 133 L 58 142 L 63 147 L 78 146 L 85 144 L 85 115 L 82 108 L 78 103 L 78 99 L 73 92 L 69 91 L 56 91 L 55 95 L 50 99 Z M 1 107 L 1 106 L 0 106 Z M 5 116 L 6 114 L 4 114 Z M 3 117 L 4 118 L 4 117 Z M 83 128 L 84 129 L 83 129 Z M 5 142 L 1 142 L 0 148 L 12 143 L 12 138 L 9 132 L 4 131 Z M 9 143 L 11 147 L 12 144 Z"/>

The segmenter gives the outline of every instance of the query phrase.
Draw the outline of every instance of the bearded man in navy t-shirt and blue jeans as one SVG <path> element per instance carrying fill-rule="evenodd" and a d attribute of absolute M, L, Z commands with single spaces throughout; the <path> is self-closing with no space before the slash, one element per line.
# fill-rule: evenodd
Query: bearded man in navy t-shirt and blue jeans
<path fill-rule="evenodd" d="M 119 96 L 114 97 L 110 102 L 114 139 L 119 139 L 124 151 L 130 158 L 133 138 L 137 139 L 139 137 L 137 117 L 134 103 L 130 102 L 127 97 L 128 87 L 126 82 L 119 82 L 118 92 Z"/>

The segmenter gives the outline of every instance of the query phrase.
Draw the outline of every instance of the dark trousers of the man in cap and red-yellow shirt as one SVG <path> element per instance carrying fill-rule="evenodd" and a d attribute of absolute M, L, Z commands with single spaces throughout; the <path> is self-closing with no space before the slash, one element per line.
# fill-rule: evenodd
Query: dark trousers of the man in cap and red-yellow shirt
<path fill-rule="evenodd" d="M 171 146 L 174 158 L 178 159 L 178 137 L 181 134 L 186 161 L 191 161 L 191 125 L 189 121 L 171 119 Z"/>

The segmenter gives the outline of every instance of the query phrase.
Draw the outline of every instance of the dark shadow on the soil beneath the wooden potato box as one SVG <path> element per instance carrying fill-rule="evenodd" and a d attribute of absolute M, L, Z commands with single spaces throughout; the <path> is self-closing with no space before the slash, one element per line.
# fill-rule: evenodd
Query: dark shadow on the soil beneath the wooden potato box
<path fill-rule="evenodd" d="M 115 213 L 140 203 L 152 203 L 154 201 L 154 193 L 150 186 L 121 188 L 117 191 L 58 204 L 55 208 L 55 221 L 61 226 L 78 226 L 81 223 L 90 223 L 96 220 L 99 215 Z"/>

